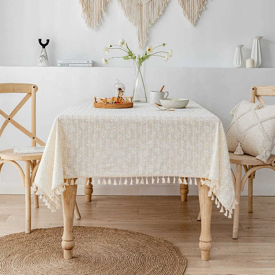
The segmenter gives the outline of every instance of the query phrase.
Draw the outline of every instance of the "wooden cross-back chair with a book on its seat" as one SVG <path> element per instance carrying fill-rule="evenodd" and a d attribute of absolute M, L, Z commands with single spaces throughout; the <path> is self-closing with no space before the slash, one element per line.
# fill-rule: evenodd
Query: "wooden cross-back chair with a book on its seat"
<path fill-rule="evenodd" d="M 5 127 L 10 123 L 22 133 L 27 135 L 32 140 L 32 146 L 36 146 L 38 143 L 41 146 L 45 145 L 45 142 L 40 140 L 36 136 L 36 92 L 38 87 L 34 84 L 22 84 L 22 83 L 0 83 L 0 93 L 26 93 L 24 98 L 14 108 L 14 110 L 8 115 L 0 109 L 0 115 L 5 118 L 5 121 L 0 129 L 0 137 Z M 28 131 L 25 127 L 19 124 L 13 119 L 15 114 L 23 107 L 23 105 L 31 98 L 31 131 Z M 28 154 L 14 154 L 13 149 L 0 151 L 0 172 L 4 163 L 10 163 L 17 168 L 23 186 L 25 187 L 25 232 L 31 232 L 31 192 L 30 186 L 34 181 L 36 171 L 39 166 L 43 153 L 28 153 Z M 17 161 L 24 161 L 24 171 Z M 24 173 L 25 172 L 25 173 Z M 38 196 L 34 190 L 34 207 L 39 207 Z M 79 219 L 80 214 L 76 206 L 76 217 Z"/>

